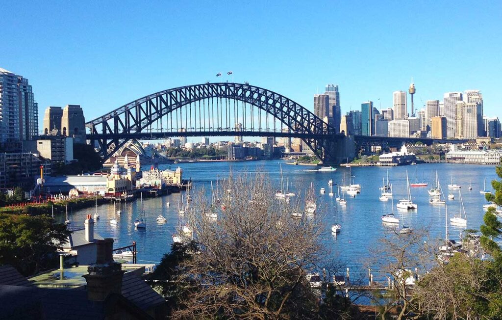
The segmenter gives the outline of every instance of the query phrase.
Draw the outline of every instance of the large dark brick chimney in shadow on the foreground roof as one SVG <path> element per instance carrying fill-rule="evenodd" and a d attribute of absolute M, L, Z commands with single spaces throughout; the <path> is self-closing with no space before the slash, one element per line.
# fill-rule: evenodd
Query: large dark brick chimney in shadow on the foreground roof
<path fill-rule="evenodd" d="M 122 265 L 113 261 L 113 239 L 96 240 L 96 263 L 87 267 L 87 298 L 104 301 L 110 293 L 122 292 Z"/>

